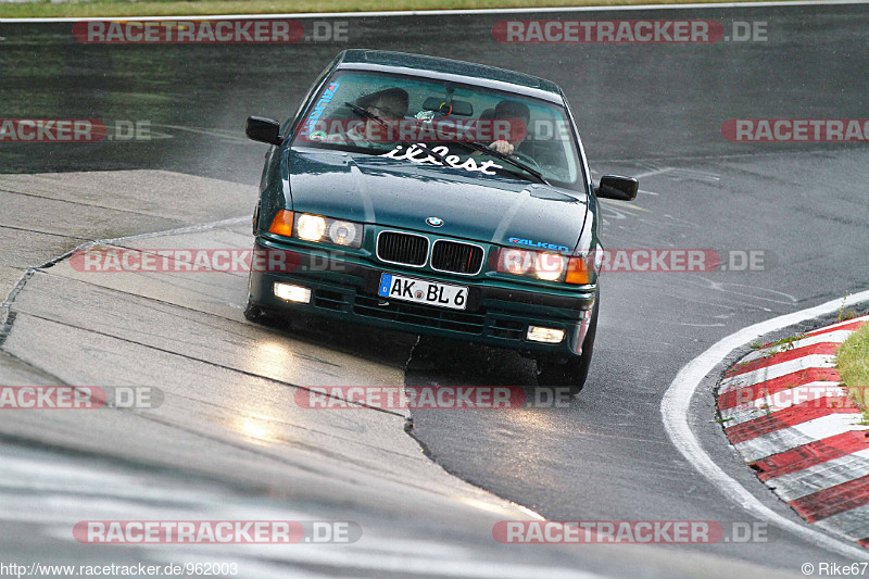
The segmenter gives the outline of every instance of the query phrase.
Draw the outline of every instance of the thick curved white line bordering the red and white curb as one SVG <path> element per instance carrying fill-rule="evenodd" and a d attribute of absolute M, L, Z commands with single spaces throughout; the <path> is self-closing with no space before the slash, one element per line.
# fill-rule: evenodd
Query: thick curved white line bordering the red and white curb
<path fill-rule="evenodd" d="M 849 295 L 844 300 L 833 300 L 822 303 L 808 310 L 793 312 L 783 316 L 778 316 L 766 322 L 760 322 L 747 328 L 743 328 L 735 333 L 722 338 L 700 356 L 689 362 L 676 378 L 672 380 L 664 399 L 660 401 L 660 412 L 664 419 L 664 428 L 672 441 L 673 446 L 685 457 L 685 460 L 697 469 L 721 494 L 728 500 L 740 505 L 751 515 L 764 519 L 772 525 L 794 533 L 802 539 L 810 541 L 823 549 L 840 553 L 855 561 L 869 559 L 869 553 L 859 546 L 849 545 L 836 538 L 829 537 L 823 532 L 808 526 L 786 518 L 768 506 L 764 505 L 754 494 L 740 484 L 735 479 L 718 466 L 711 456 L 701 445 L 697 437 L 694 436 L 689 424 L 689 408 L 691 399 L 697 391 L 703 379 L 715 372 L 733 350 L 752 343 L 770 332 L 784 329 L 807 319 L 836 312 L 845 305 L 854 305 L 869 300 L 869 291 L 861 291 Z M 866 519 L 864 519 L 866 521 Z"/>

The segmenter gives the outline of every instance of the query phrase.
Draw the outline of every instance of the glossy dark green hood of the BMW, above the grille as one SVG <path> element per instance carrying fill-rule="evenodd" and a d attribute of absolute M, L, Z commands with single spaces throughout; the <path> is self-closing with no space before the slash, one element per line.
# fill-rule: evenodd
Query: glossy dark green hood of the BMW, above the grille
<path fill-rule="evenodd" d="M 293 211 L 503 246 L 572 250 L 588 199 L 530 181 L 362 153 L 292 149 Z M 433 228 L 426 218 L 438 217 Z M 521 240 L 521 241 L 516 241 Z M 550 247 L 552 246 L 552 247 Z"/>

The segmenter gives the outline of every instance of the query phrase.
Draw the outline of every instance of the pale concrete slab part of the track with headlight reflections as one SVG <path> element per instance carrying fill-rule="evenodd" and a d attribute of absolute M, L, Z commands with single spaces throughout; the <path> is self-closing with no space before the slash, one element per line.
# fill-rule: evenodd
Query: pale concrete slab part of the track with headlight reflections
<path fill-rule="evenodd" d="M 60 196 L 68 187 L 72 197 L 75 184 L 135 175 L 71 173 L 52 191 Z M 139 172 L 134 180 L 161 176 Z M 45 178 L 13 180 L 38 190 Z M 212 179 L 176 174 L 173 180 L 200 196 L 218 190 Z M 100 211 L 91 207 L 85 223 Z M 226 219 L 90 247 L 244 249 L 248 227 Z M 307 386 L 402 385 L 413 337 L 251 325 L 238 302 L 243 273 L 93 274 L 72 264 L 30 268 L 13 291 L 0 383 L 156 387 L 162 404 L 4 413 L 0 541 L 11 561 L 201 563 L 201 545 L 93 550 L 74 542 L 71 530 L 95 519 L 289 519 L 351 520 L 363 538 L 352 545 L 205 549 L 216 551 L 216 561 L 238 564 L 242 577 L 691 577 L 709 567 L 727 577 L 733 569 L 757 570 L 707 554 L 672 559 L 648 546 L 500 545 L 492 526 L 528 514 L 431 463 L 405 435 L 403 413 L 310 411 L 294 401 Z"/>

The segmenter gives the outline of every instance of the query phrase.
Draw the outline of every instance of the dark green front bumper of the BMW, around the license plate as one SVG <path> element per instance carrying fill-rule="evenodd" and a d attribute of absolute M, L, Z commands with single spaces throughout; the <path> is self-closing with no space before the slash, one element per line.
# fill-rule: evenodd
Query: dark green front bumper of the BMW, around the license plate
<path fill-rule="evenodd" d="M 257 238 L 254 251 L 293 252 L 291 272 L 251 269 L 251 303 L 273 313 L 300 312 L 413 333 L 518 350 L 529 355 L 572 356 L 581 353 L 595 301 L 593 287 L 550 291 L 512 287 L 503 280 L 470 279 L 430 272 L 344 259 L 340 252 Z M 377 294 L 380 275 L 391 273 L 468 287 L 467 309 L 448 310 L 413 302 L 388 300 Z M 287 302 L 274 294 L 275 282 L 312 290 L 311 302 Z M 528 326 L 563 329 L 561 343 L 526 338 Z"/>

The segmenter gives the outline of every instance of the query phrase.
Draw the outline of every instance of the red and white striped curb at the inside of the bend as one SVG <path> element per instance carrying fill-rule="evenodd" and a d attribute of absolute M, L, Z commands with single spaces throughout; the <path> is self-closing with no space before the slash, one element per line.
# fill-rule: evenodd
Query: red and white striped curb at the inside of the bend
<path fill-rule="evenodd" d="M 869 425 L 835 352 L 861 316 L 752 352 L 718 386 L 725 432 L 760 480 L 813 525 L 869 546 Z M 869 386 L 869 385 L 867 385 Z"/>

